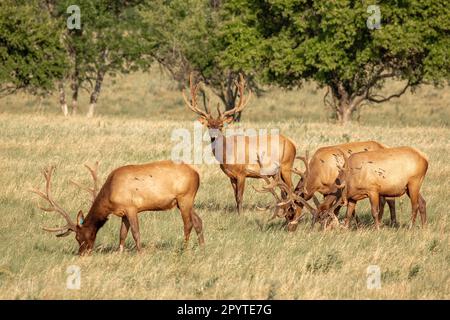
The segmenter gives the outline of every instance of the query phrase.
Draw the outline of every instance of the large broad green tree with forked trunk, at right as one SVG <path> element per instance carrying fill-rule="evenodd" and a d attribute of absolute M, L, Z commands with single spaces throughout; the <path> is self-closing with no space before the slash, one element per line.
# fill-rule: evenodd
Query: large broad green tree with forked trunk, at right
<path fill-rule="evenodd" d="M 250 34 L 240 59 L 255 61 L 263 79 L 284 87 L 314 80 L 327 87 L 325 101 L 346 123 L 364 103 L 381 103 L 422 83 L 450 79 L 450 7 L 445 0 L 365 1 L 230 0 L 222 30 Z M 376 21 L 377 22 L 377 21 Z M 236 63 L 245 46 L 230 36 L 224 64 Z M 404 82 L 380 95 L 388 79 Z"/>

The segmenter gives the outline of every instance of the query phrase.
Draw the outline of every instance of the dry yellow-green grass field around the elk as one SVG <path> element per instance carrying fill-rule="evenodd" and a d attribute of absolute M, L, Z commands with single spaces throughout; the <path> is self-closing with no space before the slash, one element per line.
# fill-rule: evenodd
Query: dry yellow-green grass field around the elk
<path fill-rule="evenodd" d="M 392 84 L 395 85 L 395 84 Z M 73 216 L 87 211 L 89 198 L 69 179 L 89 182 L 83 163 L 101 162 L 102 178 L 113 168 L 170 157 L 173 129 L 193 129 L 194 116 L 180 92 L 163 75 L 134 75 L 105 87 L 99 115 L 64 118 L 50 97 L 25 95 L 0 100 L 0 298 L 1 299 L 449 299 L 450 298 L 450 90 L 425 87 L 383 106 L 366 107 L 359 122 L 341 127 L 328 119 L 322 90 L 270 90 L 244 114 L 245 128 L 279 128 L 300 153 L 353 140 L 374 139 L 390 146 L 410 145 L 425 152 L 430 167 L 422 194 L 429 225 L 408 230 L 410 204 L 397 201 L 400 228 L 372 227 L 367 201 L 357 206 L 365 227 L 295 233 L 282 221 L 266 223 L 256 210 L 268 195 L 249 180 L 244 214 L 235 212 L 228 178 L 218 166 L 199 165 L 197 212 L 206 246 L 191 237 L 183 250 L 180 214 L 140 215 L 143 253 L 119 254 L 120 220 L 100 230 L 95 252 L 76 255 L 73 236 L 58 239 L 40 229 L 59 217 L 43 213 L 28 192 L 42 186 L 40 170 L 57 165 L 54 196 Z M 83 97 L 82 103 L 86 100 Z M 389 214 L 385 213 L 385 222 Z M 81 269 L 81 289 L 66 288 L 66 269 Z M 381 289 L 366 286 L 366 269 L 381 269 Z"/>

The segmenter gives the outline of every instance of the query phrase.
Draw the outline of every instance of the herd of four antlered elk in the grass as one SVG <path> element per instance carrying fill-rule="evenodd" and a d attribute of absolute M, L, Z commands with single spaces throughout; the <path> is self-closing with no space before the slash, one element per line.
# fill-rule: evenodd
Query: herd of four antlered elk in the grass
<path fill-rule="evenodd" d="M 360 221 L 355 207 L 358 201 L 365 198 L 370 201 L 376 229 L 380 228 L 386 202 L 391 224 L 395 226 L 395 198 L 405 193 L 411 202 L 410 226 L 414 226 L 418 212 L 422 226 L 426 224 L 426 202 L 420 194 L 420 188 L 428 169 L 428 159 L 422 152 L 411 147 L 390 148 L 376 141 L 363 141 L 322 147 L 309 158 L 308 152 L 305 152 L 305 156 L 297 156 L 295 143 L 281 134 L 258 136 L 257 143 L 250 143 L 249 137 L 244 137 L 241 141 L 245 147 L 234 148 L 238 137 L 225 135 L 223 128 L 234 121 L 235 115 L 248 105 L 251 96 L 251 92 L 245 94 L 242 75 L 235 85 L 238 92 L 235 107 L 222 112 L 218 106 L 217 117 L 212 115 L 209 103 L 204 103 L 204 110 L 199 107 L 197 99 L 200 83 L 195 83 L 192 76 L 190 96 L 186 96 L 183 91 L 183 98 L 186 106 L 199 116 L 198 120 L 208 129 L 212 152 L 216 158 L 220 155 L 220 169 L 230 179 L 238 213 L 242 212 L 246 178 L 256 178 L 262 180 L 262 185 L 254 189 L 271 194 L 274 200 L 272 205 L 258 209 L 272 209 L 269 221 L 277 217 L 285 219 L 289 231 L 297 229 L 300 220 L 308 215 L 306 210 L 311 215 L 312 226 L 319 222 L 325 229 L 333 226 L 348 228 L 355 217 L 358 227 Z M 271 146 L 271 156 L 259 152 L 259 140 L 265 140 Z M 272 140 L 275 143 L 270 143 Z M 231 158 L 236 157 L 245 160 L 231 161 Z M 304 163 L 304 170 L 294 167 L 296 159 Z M 74 232 L 80 255 L 93 250 L 97 232 L 111 214 L 122 221 L 119 251 L 124 250 L 130 228 L 136 249 L 140 251 L 138 214 L 174 207 L 178 208 L 183 219 L 185 244 L 192 228 L 197 233 L 199 244 L 204 244 L 202 219 L 194 209 L 200 175 L 193 166 L 172 160 L 127 165 L 113 170 L 101 188 L 98 186 L 98 164 L 86 167 L 93 179 L 93 187 L 72 182 L 91 194 L 92 204 L 87 215 L 79 211 L 75 221 L 53 198 L 51 182 L 54 166 L 43 171 L 45 189 L 31 189 L 48 203 L 47 206 L 39 205 L 40 209 L 59 213 L 67 222 L 63 227 L 43 229 L 56 232 L 57 237 Z M 300 178 L 295 187 L 292 174 Z M 322 200 L 317 194 L 322 195 Z M 339 221 L 341 207 L 346 207 L 343 223 Z"/>

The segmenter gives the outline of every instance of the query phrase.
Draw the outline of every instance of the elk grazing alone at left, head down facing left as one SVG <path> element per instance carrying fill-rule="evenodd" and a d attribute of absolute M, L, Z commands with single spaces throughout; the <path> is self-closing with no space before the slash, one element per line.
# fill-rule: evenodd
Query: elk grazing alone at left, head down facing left
<path fill-rule="evenodd" d="M 61 214 L 67 225 L 58 228 L 44 228 L 50 232 L 61 232 L 57 237 L 75 232 L 80 248 L 79 254 L 89 253 L 95 242 L 98 230 L 108 220 L 110 214 L 122 218 L 120 228 L 120 252 L 124 249 L 128 229 L 131 227 L 136 248 L 141 250 L 138 213 L 142 211 L 169 210 L 177 206 L 184 223 L 185 243 L 189 240 L 192 227 L 198 235 L 201 245 L 204 243 L 202 220 L 194 211 L 194 199 L 200 184 L 199 174 L 191 166 L 172 161 L 158 161 L 142 165 L 127 165 L 113 170 L 100 191 L 97 193 L 97 175 L 90 168 L 94 178 L 94 188 L 89 189 L 93 195 L 91 208 L 86 216 L 80 210 L 76 222 L 52 197 L 51 179 L 55 167 L 44 169 L 46 189 L 31 191 L 49 203 L 41 207 L 44 211 Z"/>

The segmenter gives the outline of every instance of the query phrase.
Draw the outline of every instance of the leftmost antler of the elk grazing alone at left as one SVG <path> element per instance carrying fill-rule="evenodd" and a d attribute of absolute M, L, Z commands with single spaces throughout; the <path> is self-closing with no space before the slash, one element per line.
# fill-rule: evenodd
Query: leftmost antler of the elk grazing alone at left
<path fill-rule="evenodd" d="M 67 224 L 64 227 L 56 227 L 56 228 L 43 227 L 43 229 L 45 231 L 49 231 L 49 232 L 64 231 L 63 233 L 56 235 L 57 237 L 61 237 L 61 236 L 67 235 L 69 233 L 69 231 L 75 231 L 76 224 L 72 221 L 72 219 L 70 219 L 69 214 L 63 208 L 61 208 L 61 206 L 59 204 L 57 204 L 55 202 L 55 200 L 53 200 L 52 192 L 51 192 L 51 179 L 52 179 L 52 174 L 53 174 L 54 170 L 55 170 L 55 166 L 49 166 L 43 170 L 43 174 L 44 174 L 45 181 L 46 181 L 45 192 L 39 190 L 38 188 L 32 188 L 30 191 L 37 194 L 39 197 L 46 200 L 50 204 L 50 207 L 42 207 L 42 206 L 38 205 L 39 209 L 41 209 L 45 212 L 57 212 L 60 215 L 62 215 L 64 219 L 66 219 Z"/>

